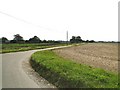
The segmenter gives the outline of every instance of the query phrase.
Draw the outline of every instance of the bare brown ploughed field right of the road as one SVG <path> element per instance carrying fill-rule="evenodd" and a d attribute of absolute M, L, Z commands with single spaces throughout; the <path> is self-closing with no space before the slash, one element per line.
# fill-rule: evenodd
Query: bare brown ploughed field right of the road
<path fill-rule="evenodd" d="M 91 43 L 82 46 L 54 50 L 59 56 L 77 63 L 87 64 L 97 68 L 118 71 L 118 44 Z"/>

